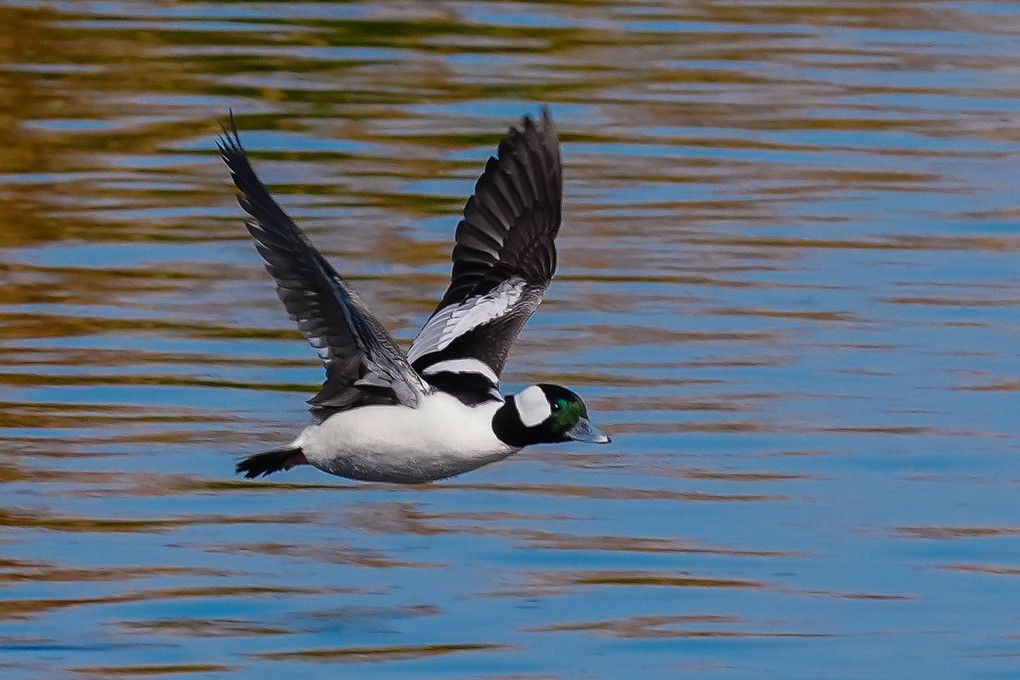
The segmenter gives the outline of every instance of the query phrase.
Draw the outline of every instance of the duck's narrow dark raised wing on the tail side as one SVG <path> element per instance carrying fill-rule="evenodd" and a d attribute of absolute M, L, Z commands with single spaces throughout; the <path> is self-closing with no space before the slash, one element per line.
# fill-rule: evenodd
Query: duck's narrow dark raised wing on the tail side
<path fill-rule="evenodd" d="M 431 387 L 340 274 L 269 195 L 252 169 L 237 125 L 223 128 L 219 151 L 241 191 L 238 203 L 276 295 L 325 365 L 325 381 L 310 404 L 344 410 L 366 404 L 414 407 Z"/>

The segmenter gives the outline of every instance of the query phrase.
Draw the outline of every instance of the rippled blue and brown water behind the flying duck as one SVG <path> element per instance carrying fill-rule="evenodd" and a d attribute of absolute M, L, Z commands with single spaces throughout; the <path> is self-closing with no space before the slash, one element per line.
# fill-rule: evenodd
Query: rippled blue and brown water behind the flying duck
<path fill-rule="evenodd" d="M 4 678 L 1020 674 L 1016 4 L 0 0 L 0 95 Z M 614 444 L 237 479 L 321 371 L 227 109 L 407 341 L 541 103 L 506 386 Z"/>

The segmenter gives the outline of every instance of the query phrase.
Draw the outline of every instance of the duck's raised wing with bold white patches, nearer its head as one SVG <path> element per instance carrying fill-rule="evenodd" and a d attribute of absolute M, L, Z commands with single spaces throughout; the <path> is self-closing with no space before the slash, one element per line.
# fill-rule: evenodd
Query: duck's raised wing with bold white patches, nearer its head
<path fill-rule="evenodd" d="M 464 206 L 450 287 L 408 352 L 430 383 L 499 395 L 510 347 L 556 270 L 562 193 L 559 140 L 543 109 L 510 128 Z"/>

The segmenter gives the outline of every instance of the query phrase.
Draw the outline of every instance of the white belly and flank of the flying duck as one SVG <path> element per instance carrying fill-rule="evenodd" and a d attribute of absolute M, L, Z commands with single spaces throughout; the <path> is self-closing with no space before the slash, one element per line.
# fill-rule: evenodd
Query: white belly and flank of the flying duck
<path fill-rule="evenodd" d="M 475 407 L 435 393 L 416 409 L 366 406 L 305 429 L 295 443 L 308 462 L 333 474 L 368 481 L 424 482 L 506 458 L 518 451 L 493 433 L 502 406 Z"/>

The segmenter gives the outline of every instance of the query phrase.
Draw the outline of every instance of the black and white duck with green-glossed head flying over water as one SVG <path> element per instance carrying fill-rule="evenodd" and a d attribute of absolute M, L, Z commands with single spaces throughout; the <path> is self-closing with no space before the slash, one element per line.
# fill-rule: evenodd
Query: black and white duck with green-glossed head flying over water
<path fill-rule="evenodd" d="M 565 387 L 500 393 L 510 346 L 556 269 L 563 179 L 548 109 L 511 127 L 486 164 L 457 225 L 450 287 L 406 354 L 269 195 L 233 116 L 218 146 L 276 293 L 325 366 L 309 400 L 318 424 L 241 460 L 238 473 L 313 465 L 350 479 L 422 483 L 533 443 L 609 441 Z"/>

